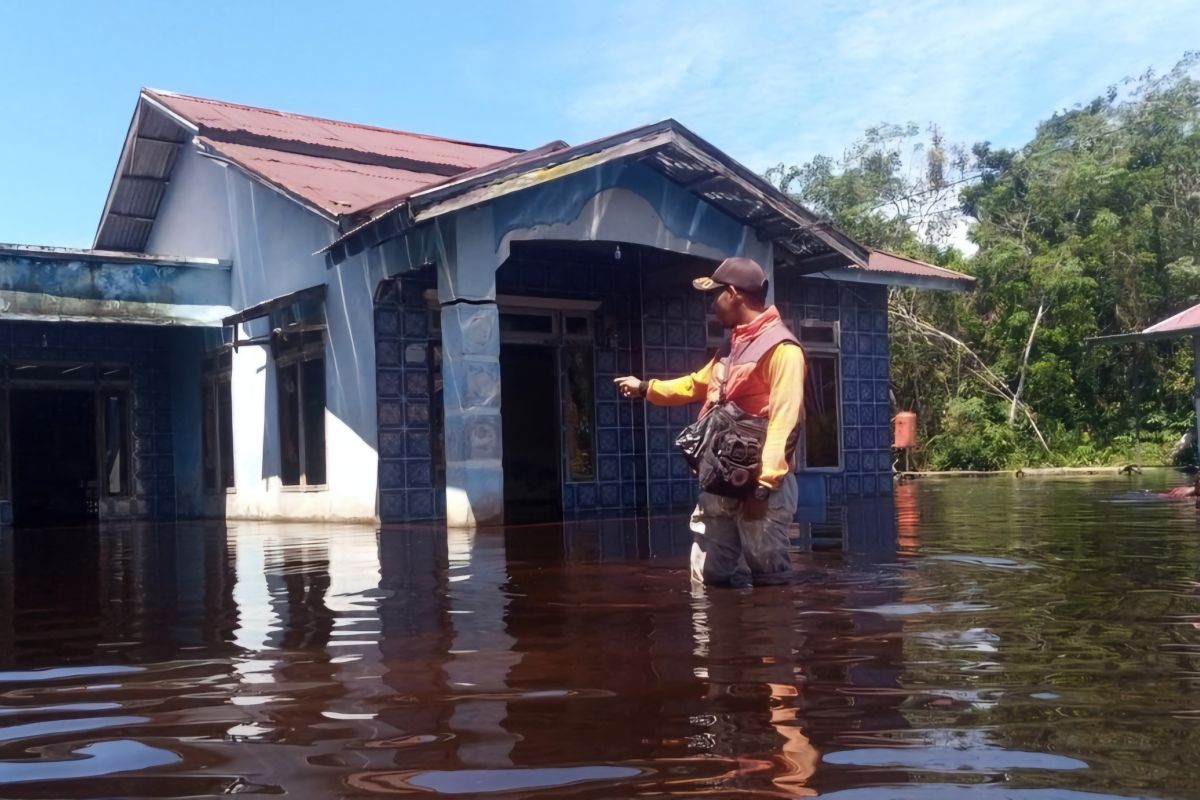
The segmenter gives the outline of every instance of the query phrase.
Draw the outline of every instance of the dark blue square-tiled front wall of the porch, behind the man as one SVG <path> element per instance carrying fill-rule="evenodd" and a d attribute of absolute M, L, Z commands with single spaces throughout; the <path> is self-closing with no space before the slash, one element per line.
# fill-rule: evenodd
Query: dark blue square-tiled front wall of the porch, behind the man
<path fill-rule="evenodd" d="M 430 338 L 427 272 L 408 273 L 379 293 L 376 354 L 379 411 L 379 513 L 384 522 L 444 517 L 436 463 L 440 383 Z M 674 447 L 697 407 L 661 408 L 617 396 L 623 374 L 674 378 L 710 357 L 707 299 L 682 283 L 647 290 L 630 265 L 511 260 L 497 272 L 500 294 L 595 300 L 595 479 L 563 482 L 566 518 L 688 510 L 695 477 Z M 790 325 L 841 323 L 844 425 L 840 473 L 821 476 L 832 501 L 892 491 L 887 289 L 781 272 L 776 305 Z M 502 378 L 503 379 L 503 378 Z M 562 392 L 566 396 L 566 392 Z M 565 459 L 565 453 L 564 453 Z M 432 468 L 430 467 L 433 461 Z M 562 471 L 568 474 L 565 461 Z M 820 486 L 817 487 L 820 491 Z"/>

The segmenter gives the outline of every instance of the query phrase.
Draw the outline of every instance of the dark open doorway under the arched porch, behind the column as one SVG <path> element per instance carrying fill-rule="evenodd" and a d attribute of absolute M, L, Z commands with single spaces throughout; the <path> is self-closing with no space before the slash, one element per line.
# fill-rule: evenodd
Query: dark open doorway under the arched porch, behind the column
<path fill-rule="evenodd" d="M 554 347 L 500 345 L 500 414 L 504 437 L 504 522 L 563 518 Z"/>

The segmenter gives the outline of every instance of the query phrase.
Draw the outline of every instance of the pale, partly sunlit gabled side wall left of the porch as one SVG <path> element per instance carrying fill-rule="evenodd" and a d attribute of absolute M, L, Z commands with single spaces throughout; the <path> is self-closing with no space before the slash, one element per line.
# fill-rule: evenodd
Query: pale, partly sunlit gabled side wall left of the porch
<path fill-rule="evenodd" d="M 313 253 L 336 235 L 331 222 L 235 167 L 190 148 L 175 166 L 148 251 L 230 260 L 232 305 L 238 309 L 326 284 L 328 485 L 306 491 L 281 485 L 274 362 L 265 347 L 240 348 L 234 354 L 232 381 L 236 491 L 208 501 L 214 515 L 250 519 L 376 517 L 373 294 L 382 277 L 376 272 L 382 271 L 370 270 L 366 255 L 326 270 L 324 259 Z M 265 321 L 258 320 L 244 326 L 241 336 L 265 332 Z M 199 428 L 176 435 L 198 437 Z"/>

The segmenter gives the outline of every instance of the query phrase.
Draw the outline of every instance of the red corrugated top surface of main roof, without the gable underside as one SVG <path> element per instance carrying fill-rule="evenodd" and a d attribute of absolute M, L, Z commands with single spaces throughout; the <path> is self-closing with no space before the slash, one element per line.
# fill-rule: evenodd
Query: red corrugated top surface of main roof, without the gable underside
<path fill-rule="evenodd" d="M 210 150 L 335 217 L 521 152 L 152 89 L 144 96 Z"/>

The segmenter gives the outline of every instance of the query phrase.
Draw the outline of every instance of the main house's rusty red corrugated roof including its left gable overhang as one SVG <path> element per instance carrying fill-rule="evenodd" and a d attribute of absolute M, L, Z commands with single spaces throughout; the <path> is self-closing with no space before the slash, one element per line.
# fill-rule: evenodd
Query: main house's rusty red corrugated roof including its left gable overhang
<path fill-rule="evenodd" d="M 191 138 L 338 222 L 523 152 L 144 89 L 94 247 L 145 248 L 179 149 Z"/>

